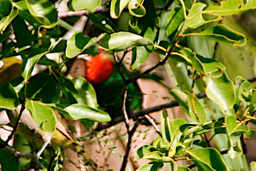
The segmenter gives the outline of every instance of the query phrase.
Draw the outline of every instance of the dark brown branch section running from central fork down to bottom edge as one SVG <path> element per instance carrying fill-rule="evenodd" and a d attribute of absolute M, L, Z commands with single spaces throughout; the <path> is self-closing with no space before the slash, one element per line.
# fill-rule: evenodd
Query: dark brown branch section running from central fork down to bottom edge
<path fill-rule="evenodd" d="M 128 131 L 128 143 L 127 143 L 127 147 L 126 147 L 126 150 L 125 150 L 125 155 L 124 155 L 124 159 L 123 159 L 123 163 L 122 163 L 120 171 L 124 171 L 125 168 L 126 168 L 126 165 L 127 165 L 128 159 L 129 159 L 129 152 L 130 152 L 130 149 L 131 149 L 132 136 L 135 133 L 136 128 L 138 127 L 138 125 L 139 125 L 139 120 L 137 120 L 135 122 L 133 128 L 130 131 Z"/>

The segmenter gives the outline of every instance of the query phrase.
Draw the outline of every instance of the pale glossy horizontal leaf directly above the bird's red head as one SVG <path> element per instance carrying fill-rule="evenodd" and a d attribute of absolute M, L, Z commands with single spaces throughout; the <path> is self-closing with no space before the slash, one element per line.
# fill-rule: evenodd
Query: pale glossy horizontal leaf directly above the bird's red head
<path fill-rule="evenodd" d="M 152 40 L 130 32 L 117 32 L 107 36 L 100 44 L 104 49 L 118 52 L 132 46 L 144 46 L 154 44 Z"/>

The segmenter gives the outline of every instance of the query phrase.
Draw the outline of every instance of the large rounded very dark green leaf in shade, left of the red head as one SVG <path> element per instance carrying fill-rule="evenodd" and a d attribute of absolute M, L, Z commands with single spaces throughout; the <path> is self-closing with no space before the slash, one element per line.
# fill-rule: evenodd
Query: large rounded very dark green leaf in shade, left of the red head
<path fill-rule="evenodd" d="M 19 95 L 24 96 L 24 89 Z M 34 75 L 27 84 L 27 97 L 33 100 L 40 100 L 44 103 L 51 103 L 56 95 L 57 88 L 54 78 L 47 73 Z"/>

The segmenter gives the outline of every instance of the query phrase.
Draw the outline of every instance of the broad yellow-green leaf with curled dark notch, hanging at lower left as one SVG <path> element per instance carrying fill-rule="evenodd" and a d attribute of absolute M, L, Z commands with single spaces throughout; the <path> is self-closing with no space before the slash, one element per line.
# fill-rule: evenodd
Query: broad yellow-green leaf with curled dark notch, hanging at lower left
<path fill-rule="evenodd" d="M 30 111 L 36 124 L 44 131 L 53 134 L 56 128 L 56 119 L 53 110 L 43 103 L 27 100 L 26 108 Z"/>

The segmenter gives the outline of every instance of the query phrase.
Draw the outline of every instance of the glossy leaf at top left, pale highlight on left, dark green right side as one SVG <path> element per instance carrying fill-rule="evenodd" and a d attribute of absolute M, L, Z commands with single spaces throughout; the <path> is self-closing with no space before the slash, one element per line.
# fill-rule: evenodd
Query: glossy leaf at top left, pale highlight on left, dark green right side
<path fill-rule="evenodd" d="M 43 25 L 50 26 L 57 22 L 58 12 L 48 0 L 25 0 L 30 14 L 42 18 Z"/>

